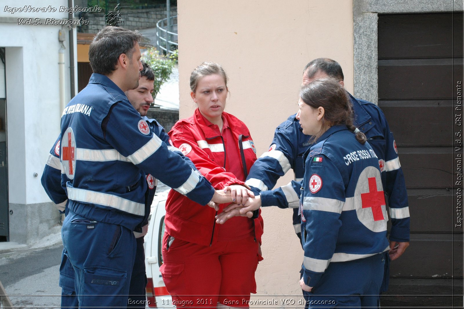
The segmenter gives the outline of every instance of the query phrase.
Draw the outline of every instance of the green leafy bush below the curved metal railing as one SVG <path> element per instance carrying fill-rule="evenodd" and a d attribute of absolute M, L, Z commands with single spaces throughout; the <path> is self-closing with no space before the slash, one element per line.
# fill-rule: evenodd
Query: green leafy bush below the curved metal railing
<path fill-rule="evenodd" d="M 155 99 L 160 92 L 161 85 L 169 80 L 169 75 L 171 75 L 176 61 L 162 57 L 155 47 L 148 48 L 147 52 L 143 53 L 142 60 L 155 72 L 155 90 L 153 91 L 153 99 Z"/>

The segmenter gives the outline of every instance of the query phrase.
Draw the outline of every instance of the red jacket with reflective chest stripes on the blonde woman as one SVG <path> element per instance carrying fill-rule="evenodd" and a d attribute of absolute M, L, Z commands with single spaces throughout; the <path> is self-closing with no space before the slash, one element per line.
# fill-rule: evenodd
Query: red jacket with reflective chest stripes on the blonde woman
<path fill-rule="evenodd" d="M 250 137 L 250 131 L 245 124 L 235 116 L 226 112 L 222 113 L 226 118 L 234 136 L 235 143 L 243 146 L 240 151 L 242 168 L 246 168 L 246 174 L 251 165 L 256 161 L 256 148 Z M 190 158 L 197 169 L 213 185 L 216 190 L 222 189 L 230 184 L 245 184 L 224 169 L 227 154 L 224 149 L 222 136 L 207 125 L 203 124 L 198 109 L 193 116 L 179 120 L 168 133 L 174 146 Z M 229 141 L 228 141 L 229 142 Z M 240 147 L 238 147 L 240 149 Z M 246 165 L 244 167 L 244 164 Z M 219 205 L 219 212 L 227 204 Z M 187 242 L 210 246 L 217 241 L 216 211 L 205 205 L 200 205 L 177 191 L 171 190 L 166 202 L 166 232 L 174 237 Z M 263 218 L 261 215 L 254 219 L 255 236 L 261 243 L 263 235 Z"/>

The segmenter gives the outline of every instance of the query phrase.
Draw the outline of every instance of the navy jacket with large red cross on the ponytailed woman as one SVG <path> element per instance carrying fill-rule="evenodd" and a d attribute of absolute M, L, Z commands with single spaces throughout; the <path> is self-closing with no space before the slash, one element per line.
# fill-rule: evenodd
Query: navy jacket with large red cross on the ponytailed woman
<path fill-rule="evenodd" d="M 329 263 L 389 250 L 379 159 L 368 143 L 336 125 L 303 155 L 303 280 L 314 287 Z"/>

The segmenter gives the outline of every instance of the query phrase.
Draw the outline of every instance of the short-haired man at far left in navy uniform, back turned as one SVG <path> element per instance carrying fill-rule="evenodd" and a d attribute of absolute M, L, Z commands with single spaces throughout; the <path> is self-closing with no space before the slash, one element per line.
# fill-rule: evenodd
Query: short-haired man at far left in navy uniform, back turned
<path fill-rule="evenodd" d="M 157 132 L 130 105 L 124 92 L 138 86 L 141 35 L 103 28 L 89 48 L 89 84 L 71 99 L 61 117 L 52 152 L 60 166 L 68 203 L 62 238 L 75 270 L 81 307 L 126 308 L 135 260 L 135 232 L 142 233 L 150 210 L 146 173 L 202 205 L 232 202 L 168 150 Z M 45 169 L 44 188 L 55 203 L 56 189 Z"/>

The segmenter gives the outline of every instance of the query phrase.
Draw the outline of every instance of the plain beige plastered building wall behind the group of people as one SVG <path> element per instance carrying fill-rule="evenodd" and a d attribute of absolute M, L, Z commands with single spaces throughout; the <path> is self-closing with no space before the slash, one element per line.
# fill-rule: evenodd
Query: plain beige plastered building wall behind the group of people
<path fill-rule="evenodd" d="M 226 112 L 248 126 L 258 157 L 268 150 L 275 128 L 296 113 L 303 68 L 310 60 L 337 60 L 346 88 L 353 90 L 352 0 L 178 0 L 178 23 L 180 118 L 195 108 L 190 72 L 203 61 L 217 62 L 230 78 Z M 292 178 L 289 171 L 278 184 Z M 280 295 L 294 295 L 290 298 L 296 301 L 301 295 L 303 250 L 291 224 L 292 210 L 267 207 L 263 217 L 264 261 L 252 299 L 275 299 L 275 307 L 285 307 L 281 299 L 290 296 Z"/>

